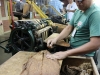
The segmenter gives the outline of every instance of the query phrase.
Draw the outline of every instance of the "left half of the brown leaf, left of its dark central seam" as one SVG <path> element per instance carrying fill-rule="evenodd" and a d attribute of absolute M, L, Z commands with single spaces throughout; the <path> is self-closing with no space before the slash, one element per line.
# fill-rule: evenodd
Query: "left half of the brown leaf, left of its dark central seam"
<path fill-rule="evenodd" d="M 42 53 L 35 53 L 26 63 L 21 75 L 42 75 Z"/>

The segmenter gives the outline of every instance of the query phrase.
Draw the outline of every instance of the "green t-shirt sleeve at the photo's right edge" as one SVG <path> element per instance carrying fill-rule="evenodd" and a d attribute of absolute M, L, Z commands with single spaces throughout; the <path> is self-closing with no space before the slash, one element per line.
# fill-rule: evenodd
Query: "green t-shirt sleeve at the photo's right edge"
<path fill-rule="evenodd" d="M 90 37 L 100 36 L 100 11 L 94 12 L 89 19 Z"/>

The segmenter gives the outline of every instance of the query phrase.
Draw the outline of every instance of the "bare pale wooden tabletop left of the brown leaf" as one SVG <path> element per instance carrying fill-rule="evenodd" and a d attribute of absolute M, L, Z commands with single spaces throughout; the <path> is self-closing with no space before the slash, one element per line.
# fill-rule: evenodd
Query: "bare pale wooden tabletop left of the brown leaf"
<path fill-rule="evenodd" d="M 23 65 L 36 52 L 19 51 L 9 60 L 0 65 L 0 75 L 20 75 L 23 70 Z M 59 61 L 62 64 L 62 60 Z"/>

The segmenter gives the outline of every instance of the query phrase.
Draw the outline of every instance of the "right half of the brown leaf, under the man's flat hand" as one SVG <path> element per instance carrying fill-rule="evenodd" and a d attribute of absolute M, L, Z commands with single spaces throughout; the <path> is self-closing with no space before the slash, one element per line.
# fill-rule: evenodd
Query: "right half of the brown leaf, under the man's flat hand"
<path fill-rule="evenodd" d="M 47 54 L 47 53 L 45 53 Z M 51 60 L 44 55 L 42 75 L 60 75 L 61 64 L 58 60 Z"/>

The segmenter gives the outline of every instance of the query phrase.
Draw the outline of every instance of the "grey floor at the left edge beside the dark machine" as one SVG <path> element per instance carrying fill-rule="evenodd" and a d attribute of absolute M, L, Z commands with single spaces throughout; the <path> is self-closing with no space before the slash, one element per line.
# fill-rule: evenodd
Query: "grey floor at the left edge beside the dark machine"
<path fill-rule="evenodd" d="M 6 34 L 4 34 L 4 35 L 0 35 L 0 42 L 1 42 L 1 41 L 4 41 L 4 40 L 7 40 L 7 39 L 9 38 L 9 35 L 10 35 L 10 33 L 6 33 Z M 4 43 L 2 43 L 2 44 L 0 44 L 0 45 L 2 45 L 3 47 L 5 47 L 6 44 L 7 44 L 7 42 L 4 42 Z M 2 48 L 0 47 L 0 65 L 1 65 L 2 63 L 4 63 L 5 61 L 7 61 L 11 56 L 12 56 L 11 53 L 5 53 L 5 52 L 4 52 L 4 49 L 2 49 Z"/>

